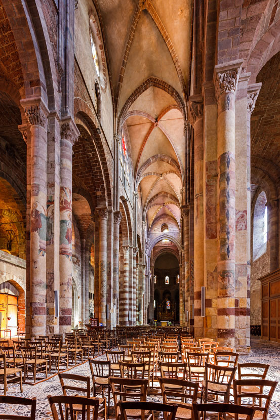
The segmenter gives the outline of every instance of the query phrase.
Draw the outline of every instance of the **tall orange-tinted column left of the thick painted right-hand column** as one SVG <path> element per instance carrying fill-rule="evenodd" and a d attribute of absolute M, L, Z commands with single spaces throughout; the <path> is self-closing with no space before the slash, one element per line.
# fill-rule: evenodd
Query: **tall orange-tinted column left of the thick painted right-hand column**
<path fill-rule="evenodd" d="M 194 132 L 194 335 L 197 339 L 204 337 L 201 317 L 201 288 L 204 285 L 203 103 L 200 95 L 189 99 Z"/>

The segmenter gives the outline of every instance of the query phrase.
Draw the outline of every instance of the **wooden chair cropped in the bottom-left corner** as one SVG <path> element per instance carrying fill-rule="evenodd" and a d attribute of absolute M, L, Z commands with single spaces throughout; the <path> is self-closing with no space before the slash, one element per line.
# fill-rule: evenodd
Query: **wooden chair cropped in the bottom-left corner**
<path fill-rule="evenodd" d="M 36 398 L 23 398 L 23 397 L 11 397 L 11 396 L 0 396 L 0 404 L 5 406 L 5 413 L 0 414 L 0 419 L 7 419 L 11 418 L 13 420 L 35 420 L 36 414 Z M 10 405 L 29 405 L 30 406 L 30 415 L 26 413 L 24 415 L 15 414 L 12 410 Z M 11 408 L 11 412 L 9 412 L 8 407 Z M 8 412 L 7 412 L 8 411 Z"/>

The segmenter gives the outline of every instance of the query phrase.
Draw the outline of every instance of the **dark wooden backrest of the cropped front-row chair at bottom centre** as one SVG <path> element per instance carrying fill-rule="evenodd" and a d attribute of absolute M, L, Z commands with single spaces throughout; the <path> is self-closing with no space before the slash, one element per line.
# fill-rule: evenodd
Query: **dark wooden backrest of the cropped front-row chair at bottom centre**
<path fill-rule="evenodd" d="M 138 402 L 138 401 L 120 401 L 118 403 L 119 411 L 121 412 L 121 419 L 127 420 L 126 410 L 140 410 L 140 413 L 144 417 L 144 412 L 148 411 L 163 411 L 169 413 L 165 415 L 166 420 L 175 420 L 177 412 L 177 404 L 162 404 L 160 402 Z M 136 417 L 137 418 L 137 417 Z M 141 418 L 141 415 L 139 415 Z M 153 416 L 152 416 L 153 418 Z"/>

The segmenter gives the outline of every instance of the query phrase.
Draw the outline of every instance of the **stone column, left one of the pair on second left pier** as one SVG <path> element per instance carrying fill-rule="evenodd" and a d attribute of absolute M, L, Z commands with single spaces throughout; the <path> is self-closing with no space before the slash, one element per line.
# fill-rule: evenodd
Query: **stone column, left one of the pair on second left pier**
<path fill-rule="evenodd" d="M 96 209 L 99 216 L 99 322 L 106 325 L 107 297 L 107 207 Z"/>

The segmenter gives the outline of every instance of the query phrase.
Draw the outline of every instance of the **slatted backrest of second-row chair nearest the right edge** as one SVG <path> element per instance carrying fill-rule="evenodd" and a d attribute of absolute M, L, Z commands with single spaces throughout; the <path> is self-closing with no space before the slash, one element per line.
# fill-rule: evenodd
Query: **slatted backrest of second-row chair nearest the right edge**
<path fill-rule="evenodd" d="M 258 411 L 263 412 L 262 419 L 266 420 L 271 398 L 277 384 L 277 381 L 267 381 L 265 379 L 233 380 L 234 404 L 241 406 L 243 404 L 246 406 L 252 405 Z M 254 392 L 249 392 L 249 387 L 254 387 Z M 255 387 L 257 388 L 255 389 Z M 257 392 L 257 389 L 259 392 Z M 243 398 L 245 398 L 244 402 L 242 402 Z M 250 402 L 251 399 L 252 403 Z"/>

